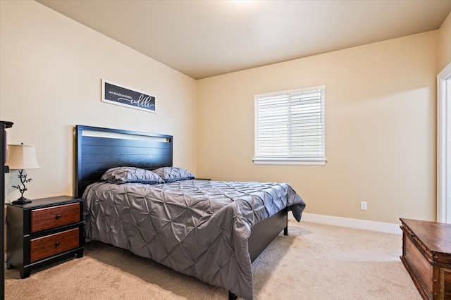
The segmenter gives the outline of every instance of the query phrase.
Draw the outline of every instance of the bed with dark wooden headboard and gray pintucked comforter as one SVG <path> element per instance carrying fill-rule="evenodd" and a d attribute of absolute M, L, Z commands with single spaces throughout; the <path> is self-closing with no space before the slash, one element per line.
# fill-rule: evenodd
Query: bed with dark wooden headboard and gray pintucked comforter
<path fill-rule="evenodd" d="M 77 125 L 75 143 L 85 237 L 223 287 L 229 299 L 253 298 L 252 261 L 288 235 L 288 211 L 302 217 L 288 183 L 197 180 L 173 166 L 171 135 Z"/>

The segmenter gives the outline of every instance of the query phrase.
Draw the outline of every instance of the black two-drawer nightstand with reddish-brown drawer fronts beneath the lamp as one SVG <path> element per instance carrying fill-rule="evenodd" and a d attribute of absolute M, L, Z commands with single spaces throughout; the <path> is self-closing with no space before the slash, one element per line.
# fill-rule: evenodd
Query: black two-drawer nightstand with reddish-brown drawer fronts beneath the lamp
<path fill-rule="evenodd" d="M 83 256 L 83 199 L 56 196 L 28 204 L 7 204 L 6 268 L 20 277 L 68 256 Z"/>

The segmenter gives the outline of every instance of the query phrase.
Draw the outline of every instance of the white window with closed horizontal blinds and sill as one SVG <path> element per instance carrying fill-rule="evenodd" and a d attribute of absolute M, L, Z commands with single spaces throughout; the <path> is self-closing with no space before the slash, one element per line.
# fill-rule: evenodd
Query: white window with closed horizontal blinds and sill
<path fill-rule="evenodd" d="M 255 101 L 255 164 L 324 165 L 326 87 L 261 94 Z"/>

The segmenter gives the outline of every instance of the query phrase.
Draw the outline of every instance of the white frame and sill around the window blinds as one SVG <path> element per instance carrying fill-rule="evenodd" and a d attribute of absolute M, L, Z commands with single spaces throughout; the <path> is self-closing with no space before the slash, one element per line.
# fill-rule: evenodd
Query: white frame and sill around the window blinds
<path fill-rule="evenodd" d="M 321 139 L 322 139 L 322 156 L 257 156 L 259 153 L 257 142 L 257 117 L 258 117 L 258 101 L 261 98 L 267 98 L 271 96 L 282 96 L 285 94 L 300 94 L 302 92 L 309 92 L 320 89 L 321 95 Z M 301 89 L 290 89 L 280 92 L 271 92 L 266 94 L 254 95 L 254 158 L 255 165 L 326 165 L 326 85 L 319 85 L 315 87 L 305 87 Z M 288 125 L 290 126 L 290 125 Z M 290 133 L 288 133 L 290 135 Z M 290 143 L 287 144 L 290 147 Z"/>

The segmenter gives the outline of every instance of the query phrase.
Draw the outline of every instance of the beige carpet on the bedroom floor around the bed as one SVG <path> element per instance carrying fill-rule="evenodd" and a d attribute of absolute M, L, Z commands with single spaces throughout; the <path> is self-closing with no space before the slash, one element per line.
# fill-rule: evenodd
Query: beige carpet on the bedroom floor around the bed
<path fill-rule="evenodd" d="M 421 300 L 400 261 L 402 237 L 290 220 L 252 264 L 254 299 Z M 228 299 L 228 292 L 98 242 L 85 256 L 6 270 L 6 299 Z"/>

